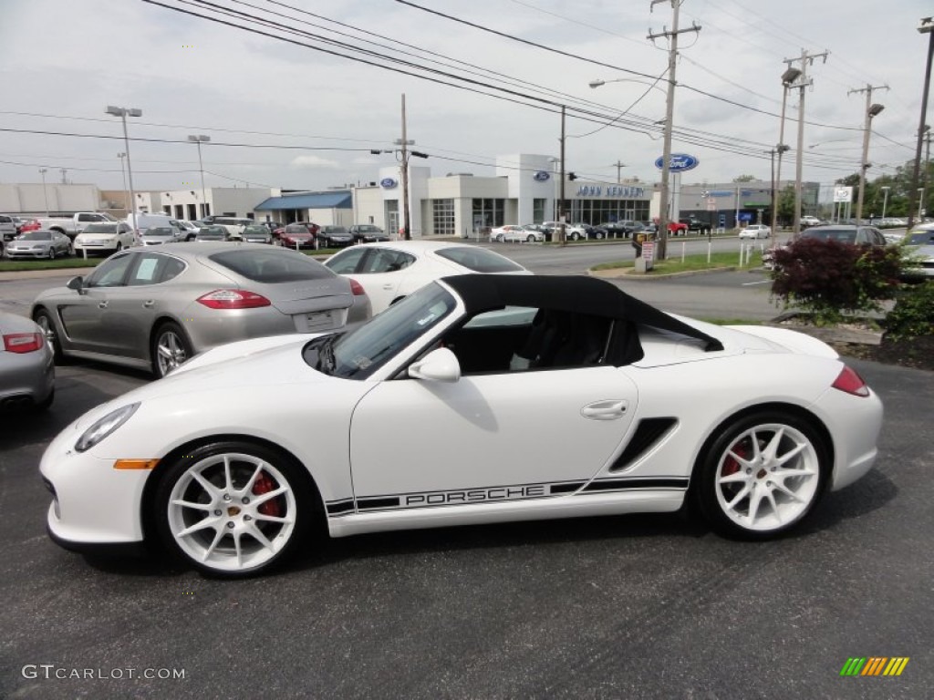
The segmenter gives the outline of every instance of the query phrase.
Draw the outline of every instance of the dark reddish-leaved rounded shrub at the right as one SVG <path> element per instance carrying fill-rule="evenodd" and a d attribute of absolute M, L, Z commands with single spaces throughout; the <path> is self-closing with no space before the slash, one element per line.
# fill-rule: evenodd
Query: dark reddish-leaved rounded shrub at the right
<path fill-rule="evenodd" d="M 901 265 L 894 246 L 800 238 L 775 251 L 771 294 L 785 308 L 810 312 L 818 325 L 839 323 L 845 314 L 881 311 L 899 288 Z"/>

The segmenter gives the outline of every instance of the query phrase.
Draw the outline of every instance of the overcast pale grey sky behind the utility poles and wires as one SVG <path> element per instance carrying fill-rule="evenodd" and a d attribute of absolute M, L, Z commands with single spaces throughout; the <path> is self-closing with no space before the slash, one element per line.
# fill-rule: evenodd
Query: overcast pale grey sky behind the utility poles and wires
<path fill-rule="evenodd" d="M 212 14 L 197 0 L 158 1 Z M 40 167 L 49 169 L 50 181 L 61 180 L 65 168 L 69 182 L 120 189 L 122 131 L 120 119 L 104 114 L 106 105 L 143 110 L 128 121 L 134 138 L 210 136 L 203 149 L 208 187 L 325 189 L 371 181 L 394 161 L 393 153 L 369 150 L 392 148 L 400 137 L 403 92 L 408 138 L 431 156 L 413 163 L 431 165 L 434 175 L 492 175 L 488 164 L 503 154 L 557 156 L 556 105 L 566 104 L 567 170 L 615 182 L 613 164 L 621 161 L 624 178 L 658 179 L 653 163 L 662 140 L 653 122 L 665 116 L 668 53 L 664 40 L 653 47 L 645 37 L 671 29 L 670 3 L 650 12 L 649 0 L 412 0 L 569 54 L 563 55 L 394 0 L 215 2 L 283 26 L 250 24 L 273 36 L 257 35 L 142 0 L 0 2 L 0 182 L 39 182 Z M 913 157 L 927 56 L 927 35 L 916 27 L 932 9 L 930 0 L 685 0 L 681 26 L 696 22 L 702 29 L 680 38 L 674 124 L 682 131 L 673 150 L 701 161 L 684 183 L 744 174 L 769 179 L 764 151 L 778 143 L 783 59 L 801 49 L 829 50 L 827 63 L 818 59 L 809 67 L 814 86 L 806 92 L 805 119 L 814 123 L 805 127 L 805 177 L 832 183 L 857 171 L 865 95 L 847 92 L 867 83 L 890 88 L 873 93 L 885 110 L 873 120 L 880 135 L 871 141 L 870 177 L 891 173 Z M 352 54 L 378 64 L 368 65 L 282 37 L 350 54 L 327 43 L 336 39 L 384 57 Z M 396 60 L 391 64 L 428 75 L 399 59 L 470 77 L 474 90 L 505 88 L 512 93 L 499 94 L 514 101 L 379 67 Z M 651 88 L 652 80 L 639 74 L 662 78 Z M 598 78 L 627 80 L 590 89 Z M 791 117 L 797 102 L 793 91 Z M 618 128 L 624 122 L 643 126 Z M 796 129 L 794 121 L 786 123 L 785 143 L 793 147 Z M 693 130 L 692 142 L 684 130 Z M 193 144 L 132 141 L 130 147 L 136 189 L 198 183 Z M 794 175 L 790 155 L 785 176 Z"/>

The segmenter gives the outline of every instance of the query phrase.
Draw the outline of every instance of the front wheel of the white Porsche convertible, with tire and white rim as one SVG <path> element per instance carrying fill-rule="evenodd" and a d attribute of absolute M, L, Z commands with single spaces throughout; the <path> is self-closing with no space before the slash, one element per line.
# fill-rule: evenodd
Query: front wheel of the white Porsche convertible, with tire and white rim
<path fill-rule="evenodd" d="M 182 561 L 241 578 L 286 561 L 314 522 L 317 502 L 288 455 L 223 441 L 188 451 L 163 472 L 154 516 L 163 545 Z"/>

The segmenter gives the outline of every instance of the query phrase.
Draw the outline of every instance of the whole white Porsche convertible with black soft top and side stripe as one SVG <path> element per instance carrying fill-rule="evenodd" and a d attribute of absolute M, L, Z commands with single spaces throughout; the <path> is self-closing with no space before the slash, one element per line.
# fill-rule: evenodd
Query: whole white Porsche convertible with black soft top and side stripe
<path fill-rule="evenodd" d="M 68 549 L 152 542 L 219 576 L 310 541 L 696 504 L 799 525 L 876 458 L 882 404 L 828 345 L 664 314 L 589 277 L 446 277 L 350 332 L 193 357 L 51 442 Z"/>

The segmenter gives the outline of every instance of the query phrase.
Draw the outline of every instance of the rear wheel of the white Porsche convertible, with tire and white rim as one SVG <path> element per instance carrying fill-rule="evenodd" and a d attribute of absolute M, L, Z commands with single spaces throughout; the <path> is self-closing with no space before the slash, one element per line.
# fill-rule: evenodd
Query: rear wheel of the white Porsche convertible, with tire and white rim
<path fill-rule="evenodd" d="M 811 424 L 771 411 L 726 425 L 699 469 L 694 497 L 708 523 L 728 537 L 769 539 L 814 509 L 831 461 Z"/>

